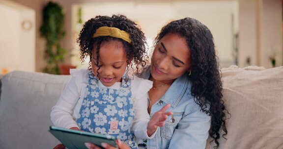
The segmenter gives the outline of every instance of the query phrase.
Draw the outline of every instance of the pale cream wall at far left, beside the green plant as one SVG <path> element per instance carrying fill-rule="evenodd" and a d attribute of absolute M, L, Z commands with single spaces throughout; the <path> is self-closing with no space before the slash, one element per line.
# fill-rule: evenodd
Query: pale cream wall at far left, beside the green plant
<path fill-rule="evenodd" d="M 31 9 L 0 0 L 0 70 L 35 71 L 35 30 L 27 28 L 34 25 L 34 15 Z"/>

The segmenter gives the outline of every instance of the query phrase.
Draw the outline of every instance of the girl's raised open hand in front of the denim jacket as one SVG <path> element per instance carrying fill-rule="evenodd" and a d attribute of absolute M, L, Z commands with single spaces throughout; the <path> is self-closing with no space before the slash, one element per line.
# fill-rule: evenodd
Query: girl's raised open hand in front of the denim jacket
<path fill-rule="evenodd" d="M 166 112 L 170 107 L 170 104 L 165 105 L 161 110 L 153 114 L 150 121 L 147 124 L 147 135 L 151 136 L 157 129 L 157 127 L 162 127 L 165 125 L 164 121 L 168 116 L 173 115 L 172 112 Z"/>

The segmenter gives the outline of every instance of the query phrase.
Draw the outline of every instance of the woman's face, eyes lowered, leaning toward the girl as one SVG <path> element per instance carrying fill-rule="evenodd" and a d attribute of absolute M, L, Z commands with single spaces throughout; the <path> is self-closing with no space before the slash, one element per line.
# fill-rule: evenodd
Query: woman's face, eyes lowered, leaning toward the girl
<path fill-rule="evenodd" d="M 157 43 L 151 57 L 151 76 L 159 81 L 171 81 L 183 75 L 191 66 L 191 52 L 186 39 L 173 33 Z"/>

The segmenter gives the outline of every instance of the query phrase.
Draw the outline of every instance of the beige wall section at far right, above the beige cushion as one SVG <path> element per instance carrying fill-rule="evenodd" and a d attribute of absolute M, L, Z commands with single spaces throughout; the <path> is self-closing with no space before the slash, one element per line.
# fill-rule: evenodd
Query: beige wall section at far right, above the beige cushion
<path fill-rule="evenodd" d="M 283 65 L 282 0 L 239 0 L 239 66 L 272 67 Z"/>

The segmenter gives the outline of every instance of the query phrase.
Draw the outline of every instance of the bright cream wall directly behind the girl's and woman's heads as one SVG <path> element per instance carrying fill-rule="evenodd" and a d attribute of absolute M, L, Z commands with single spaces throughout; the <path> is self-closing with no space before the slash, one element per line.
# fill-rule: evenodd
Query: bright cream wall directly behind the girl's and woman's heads
<path fill-rule="evenodd" d="M 232 16 L 237 16 L 236 0 L 174 2 L 92 2 L 81 3 L 83 20 L 96 15 L 123 14 L 141 25 L 146 37 L 153 40 L 162 26 L 172 20 L 191 17 L 206 25 L 214 36 L 222 67 L 234 64 Z M 76 10 L 75 10 L 76 11 Z M 234 24 L 238 24 L 237 17 Z M 76 29 L 76 28 L 75 28 Z M 76 37 L 78 35 L 75 35 Z M 151 43 L 149 43 L 152 45 Z M 77 49 L 75 49 L 77 50 Z M 78 54 L 78 52 L 76 52 Z M 74 59 L 73 64 L 78 64 Z"/>

